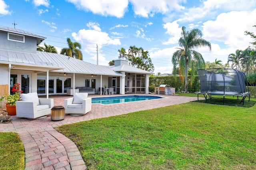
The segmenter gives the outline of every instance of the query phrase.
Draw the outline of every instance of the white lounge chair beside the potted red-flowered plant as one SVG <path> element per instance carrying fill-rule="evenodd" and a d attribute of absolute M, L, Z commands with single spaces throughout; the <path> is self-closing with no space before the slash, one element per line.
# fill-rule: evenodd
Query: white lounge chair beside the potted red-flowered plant
<path fill-rule="evenodd" d="M 16 102 L 16 116 L 36 119 L 51 114 L 53 99 L 38 98 L 37 93 L 21 94 L 22 101 Z"/>

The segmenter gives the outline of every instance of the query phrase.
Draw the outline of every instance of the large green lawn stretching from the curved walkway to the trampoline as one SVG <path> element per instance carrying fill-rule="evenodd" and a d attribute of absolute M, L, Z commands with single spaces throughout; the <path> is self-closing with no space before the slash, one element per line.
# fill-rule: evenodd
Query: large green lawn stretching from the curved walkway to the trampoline
<path fill-rule="evenodd" d="M 198 102 L 56 128 L 93 169 L 256 169 L 256 106 Z"/>

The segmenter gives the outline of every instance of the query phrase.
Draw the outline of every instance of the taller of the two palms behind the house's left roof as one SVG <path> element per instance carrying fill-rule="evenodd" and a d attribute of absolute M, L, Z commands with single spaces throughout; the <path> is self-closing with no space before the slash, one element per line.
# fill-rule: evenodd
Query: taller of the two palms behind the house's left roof
<path fill-rule="evenodd" d="M 67 38 L 68 48 L 63 48 L 60 54 L 67 55 L 69 57 L 74 57 L 79 60 L 83 60 L 83 55 L 81 49 L 81 44 L 78 42 L 72 42 L 70 38 Z"/>

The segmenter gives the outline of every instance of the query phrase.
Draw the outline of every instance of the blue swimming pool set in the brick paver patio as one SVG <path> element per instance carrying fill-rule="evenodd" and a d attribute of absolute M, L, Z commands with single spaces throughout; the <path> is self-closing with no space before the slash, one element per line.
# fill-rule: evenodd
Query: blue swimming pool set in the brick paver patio
<path fill-rule="evenodd" d="M 112 97 L 102 97 L 102 98 L 92 98 L 92 104 L 118 104 L 125 102 L 136 102 L 142 100 L 152 100 L 160 99 L 163 97 L 160 96 L 139 96 L 139 95 L 130 95 L 130 96 L 112 96 Z"/>

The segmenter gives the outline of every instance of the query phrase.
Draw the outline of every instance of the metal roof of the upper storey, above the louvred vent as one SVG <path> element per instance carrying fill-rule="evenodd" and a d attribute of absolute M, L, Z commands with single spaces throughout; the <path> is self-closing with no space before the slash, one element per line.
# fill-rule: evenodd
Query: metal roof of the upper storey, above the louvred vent
<path fill-rule="evenodd" d="M 16 28 L 11 28 L 11 27 L 0 26 L 0 31 L 6 31 L 6 32 L 9 32 L 9 33 L 16 33 L 16 34 L 20 34 L 20 35 L 26 35 L 26 36 L 30 36 L 30 37 L 36 37 L 37 45 L 39 45 L 44 39 L 46 39 L 46 37 L 42 37 L 40 35 L 36 35 L 34 33 L 28 32 L 28 31 L 24 31 L 24 30 L 16 29 Z"/>

